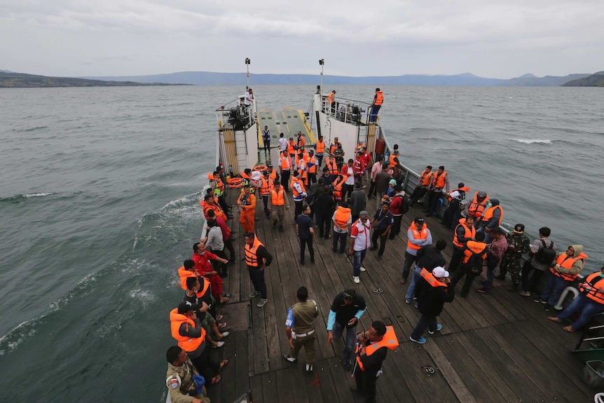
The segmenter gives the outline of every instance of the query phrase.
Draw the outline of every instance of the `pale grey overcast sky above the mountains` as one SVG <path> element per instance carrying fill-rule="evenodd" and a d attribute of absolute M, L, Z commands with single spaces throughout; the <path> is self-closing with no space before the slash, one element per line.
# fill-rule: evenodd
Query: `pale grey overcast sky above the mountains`
<path fill-rule="evenodd" d="M 460 74 L 604 70 L 603 0 L 0 0 L 0 69 Z"/>

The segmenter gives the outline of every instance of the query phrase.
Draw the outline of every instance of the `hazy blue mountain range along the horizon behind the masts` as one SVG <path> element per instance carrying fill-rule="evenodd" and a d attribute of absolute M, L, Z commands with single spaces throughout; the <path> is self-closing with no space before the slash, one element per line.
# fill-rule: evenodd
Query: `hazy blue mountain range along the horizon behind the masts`
<path fill-rule="evenodd" d="M 471 73 L 451 76 L 425 74 L 404 74 L 402 76 L 324 76 L 329 85 L 366 84 L 375 86 L 562 86 L 568 81 L 584 78 L 589 74 L 569 74 L 568 76 L 537 77 L 525 74 L 517 78 L 500 79 L 474 76 Z M 170 74 L 154 74 L 151 76 L 102 76 L 85 77 L 95 80 L 137 81 L 140 83 L 181 83 L 196 86 L 245 86 L 247 78 L 243 73 L 212 73 L 209 71 L 180 71 Z M 253 74 L 254 84 L 318 84 L 320 75 L 313 74 Z"/>

